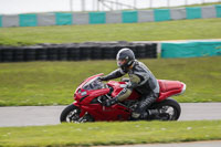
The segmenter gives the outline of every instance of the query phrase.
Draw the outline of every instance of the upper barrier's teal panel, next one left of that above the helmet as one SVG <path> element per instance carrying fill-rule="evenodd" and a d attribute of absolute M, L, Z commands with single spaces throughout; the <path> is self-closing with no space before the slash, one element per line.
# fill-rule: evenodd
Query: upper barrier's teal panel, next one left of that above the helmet
<path fill-rule="evenodd" d="M 90 12 L 90 23 L 91 24 L 106 23 L 106 12 Z"/>

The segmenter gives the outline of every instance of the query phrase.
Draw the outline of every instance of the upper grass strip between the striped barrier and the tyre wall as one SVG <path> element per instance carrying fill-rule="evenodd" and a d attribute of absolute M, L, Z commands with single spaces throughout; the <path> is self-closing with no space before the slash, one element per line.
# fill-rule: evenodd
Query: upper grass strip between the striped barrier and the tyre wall
<path fill-rule="evenodd" d="M 220 39 L 220 18 L 129 24 L 1 28 L 0 44 Z"/>

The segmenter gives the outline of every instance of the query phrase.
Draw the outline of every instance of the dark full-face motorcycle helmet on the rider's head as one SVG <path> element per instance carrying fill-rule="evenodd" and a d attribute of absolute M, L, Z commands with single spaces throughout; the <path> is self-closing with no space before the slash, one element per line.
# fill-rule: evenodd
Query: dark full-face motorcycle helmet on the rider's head
<path fill-rule="evenodd" d="M 128 69 L 135 62 L 135 54 L 134 54 L 134 52 L 130 49 L 124 48 L 124 49 L 122 49 L 122 50 L 118 51 L 116 60 L 117 60 L 117 65 L 124 72 L 127 72 Z"/>

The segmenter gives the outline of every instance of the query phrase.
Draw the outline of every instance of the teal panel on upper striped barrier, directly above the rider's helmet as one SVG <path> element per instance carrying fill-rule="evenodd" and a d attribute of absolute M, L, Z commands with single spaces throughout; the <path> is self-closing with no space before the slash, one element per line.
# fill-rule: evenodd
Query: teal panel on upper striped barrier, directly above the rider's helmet
<path fill-rule="evenodd" d="M 123 11 L 122 22 L 123 23 L 134 23 L 138 21 L 137 11 Z"/>

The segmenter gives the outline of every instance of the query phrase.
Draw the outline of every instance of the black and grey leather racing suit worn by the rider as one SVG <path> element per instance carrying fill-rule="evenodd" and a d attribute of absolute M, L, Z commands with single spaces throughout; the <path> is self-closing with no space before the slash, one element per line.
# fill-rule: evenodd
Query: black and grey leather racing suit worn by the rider
<path fill-rule="evenodd" d="M 120 77 L 128 73 L 130 83 L 128 83 L 127 87 L 125 87 L 116 97 L 118 101 L 124 101 L 127 98 L 131 91 L 135 88 L 143 96 L 139 99 L 138 106 L 133 113 L 133 117 L 140 117 L 141 113 L 146 112 L 146 109 L 156 101 L 159 95 L 159 85 L 154 76 L 154 74 L 149 71 L 149 69 L 141 62 L 135 61 L 133 67 L 128 71 L 123 71 L 122 69 L 117 69 L 116 71 L 109 73 L 104 76 L 104 81 L 113 80 Z"/>

